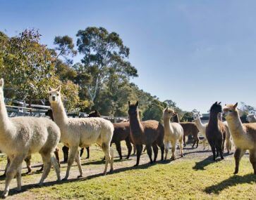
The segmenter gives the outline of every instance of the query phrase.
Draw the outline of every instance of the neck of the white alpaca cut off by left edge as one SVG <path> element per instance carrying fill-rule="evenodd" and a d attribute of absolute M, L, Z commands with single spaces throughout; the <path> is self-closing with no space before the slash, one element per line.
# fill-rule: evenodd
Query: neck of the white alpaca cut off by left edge
<path fill-rule="evenodd" d="M 8 118 L 6 105 L 4 103 L 4 97 L 1 97 L 0 100 L 0 140 L 6 142 L 7 139 L 11 139 L 15 137 L 15 135 L 10 135 L 11 128 L 13 128 L 13 124 L 11 120 Z M 14 134 L 15 132 L 13 132 Z"/>

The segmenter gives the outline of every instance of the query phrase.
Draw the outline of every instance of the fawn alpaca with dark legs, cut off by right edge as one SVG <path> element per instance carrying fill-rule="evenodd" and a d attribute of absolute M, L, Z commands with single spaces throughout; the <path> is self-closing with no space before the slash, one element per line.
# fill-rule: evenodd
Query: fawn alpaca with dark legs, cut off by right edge
<path fill-rule="evenodd" d="M 239 162 L 246 150 L 250 153 L 250 163 L 252 164 L 254 174 L 256 174 L 256 123 L 242 124 L 235 105 L 225 105 L 224 117 L 228 122 L 228 127 L 236 146 L 234 154 L 236 161 L 235 174 L 238 173 Z"/>

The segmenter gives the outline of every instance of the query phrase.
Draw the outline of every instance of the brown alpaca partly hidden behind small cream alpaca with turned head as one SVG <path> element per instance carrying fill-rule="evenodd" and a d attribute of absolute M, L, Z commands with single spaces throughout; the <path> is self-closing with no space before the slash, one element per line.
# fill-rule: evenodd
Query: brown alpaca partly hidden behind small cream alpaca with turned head
<path fill-rule="evenodd" d="M 195 148 L 198 147 L 198 142 L 199 142 L 199 138 L 198 138 L 198 128 L 195 125 L 194 122 L 180 122 L 180 119 L 178 118 L 178 113 L 175 112 L 175 115 L 173 116 L 173 122 L 179 123 L 181 124 L 182 128 L 183 128 L 183 142 L 184 142 L 184 147 L 185 147 L 185 136 L 188 135 L 193 135 L 193 145 L 192 147 L 195 146 L 195 142 L 197 143 L 197 146 Z"/>

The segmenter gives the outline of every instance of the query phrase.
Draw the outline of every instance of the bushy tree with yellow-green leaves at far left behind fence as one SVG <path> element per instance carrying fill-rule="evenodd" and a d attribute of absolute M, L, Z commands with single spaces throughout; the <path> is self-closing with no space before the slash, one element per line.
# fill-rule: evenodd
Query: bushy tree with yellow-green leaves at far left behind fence
<path fill-rule="evenodd" d="M 39 44 L 39 37 L 37 30 L 25 29 L 4 43 L 0 73 L 6 88 L 15 91 L 20 100 L 45 98 L 54 74 L 54 58 L 46 46 Z"/>

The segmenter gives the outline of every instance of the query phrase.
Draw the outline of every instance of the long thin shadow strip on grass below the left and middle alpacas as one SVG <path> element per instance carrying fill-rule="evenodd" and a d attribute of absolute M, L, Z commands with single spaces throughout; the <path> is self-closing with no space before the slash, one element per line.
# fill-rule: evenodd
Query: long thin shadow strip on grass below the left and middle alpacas
<path fill-rule="evenodd" d="M 125 168 L 118 168 L 118 169 L 114 170 L 111 173 L 107 173 L 106 175 L 112 175 L 112 174 L 116 174 L 116 173 L 121 173 L 121 172 L 128 171 L 128 170 L 147 169 L 150 166 L 154 166 L 155 164 L 169 164 L 170 162 L 171 162 L 170 160 L 168 160 L 168 161 L 157 161 L 154 164 L 147 163 L 147 164 L 141 164 L 140 166 L 128 166 L 128 167 L 125 167 Z M 20 192 L 18 192 L 16 190 L 16 188 L 10 189 L 10 192 L 9 192 L 8 196 L 13 196 L 15 194 L 20 194 L 20 193 L 28 191 L 29 189 L 33 189 L 33 188 L 49 187 L 49 186 L 52 186 L 52 185 L 62 185 L 62 184 L 66 184 L 68 182 L 80 182 L 80 181 L 84 181 L 84 180 L 90 180 L 92 178 L 97 178 L 97 177 L 100 177 L 100 176 L 103 176 L 103 173 L 98 173 L 98 174 L 94 174 L 94 175 L 88 175 L 87 177 L 83 177 L 83 178 L 73 178 L 73 179 L 71 178 L 71 179 L 63 180 L 63 181 L 44 182 L 44 185 L 42 185 L 42 186 L 39 186 L 38 184 L 23 185 L 21 187 L 21 191 Z M 2 193 L 2 192 L 3 191 L 1 190 L 0 193 Z"/>

